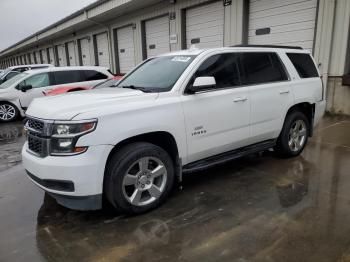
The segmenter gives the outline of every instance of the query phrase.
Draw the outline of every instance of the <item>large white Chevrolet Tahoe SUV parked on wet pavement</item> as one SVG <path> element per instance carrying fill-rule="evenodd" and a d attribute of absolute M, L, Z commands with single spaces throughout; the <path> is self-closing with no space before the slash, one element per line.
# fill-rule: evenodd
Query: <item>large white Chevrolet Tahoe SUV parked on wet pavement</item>
<path fill-rule="evenodd" d="M 230 47 L 144 61 L 116 87 L 36 99 L 23 165 L 58 203 L 142 213 L 182 173 L 274 148 L 299 155 L 325 110 L 308 51 Z"/>

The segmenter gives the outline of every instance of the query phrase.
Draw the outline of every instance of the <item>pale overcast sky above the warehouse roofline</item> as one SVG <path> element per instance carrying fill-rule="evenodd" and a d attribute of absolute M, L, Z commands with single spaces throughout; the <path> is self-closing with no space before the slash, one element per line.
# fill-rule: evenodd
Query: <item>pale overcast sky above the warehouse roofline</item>
<path fill-rule="evenodd" d="M 96 0 L 0 0 L 0 51 Z"/>

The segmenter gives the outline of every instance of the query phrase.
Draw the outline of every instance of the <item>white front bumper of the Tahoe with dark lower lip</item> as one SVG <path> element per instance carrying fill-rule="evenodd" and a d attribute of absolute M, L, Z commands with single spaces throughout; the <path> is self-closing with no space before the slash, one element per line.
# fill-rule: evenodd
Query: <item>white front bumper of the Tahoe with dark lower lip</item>
<path fill-rule="evenodd" d="M 106 161 L 112 148 L 111 145 L 90 146 L 81 155 L 40 158 L 30 153 L 25 143 L 23 166 L 30 174 L 28 178 L 63 206 L 96 209 L 79 208 L 79 204 L 72 203 L 86 200 L 90 203 L 87 206 L 92 206 L 91 203 L 98 206 L 96 203 L 101 202 Z"/>

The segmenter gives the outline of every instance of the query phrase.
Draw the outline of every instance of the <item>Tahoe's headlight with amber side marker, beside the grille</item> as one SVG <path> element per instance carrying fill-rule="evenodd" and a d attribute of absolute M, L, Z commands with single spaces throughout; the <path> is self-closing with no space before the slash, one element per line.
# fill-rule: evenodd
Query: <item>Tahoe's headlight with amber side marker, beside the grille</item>
<path fill-rule="evenodd" d="M 94 131 L 96 123 L 96 120 L 79 123 L 55 123 L 52 127 L 51 155 L 64 156 L 84 153 L 88 147 L 76 147 L 76 143 L 81 136 Z"/>

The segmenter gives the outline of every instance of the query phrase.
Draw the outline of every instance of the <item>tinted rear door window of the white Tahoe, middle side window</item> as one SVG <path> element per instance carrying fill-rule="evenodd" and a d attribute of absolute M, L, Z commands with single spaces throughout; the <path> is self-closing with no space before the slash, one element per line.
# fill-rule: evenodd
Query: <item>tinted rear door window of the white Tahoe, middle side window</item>
<path fill-rule="evenodd" d="M 245 85 L 288 80 L 282 62 L 275 53 L 241 53 L 242 82 Z"/>

